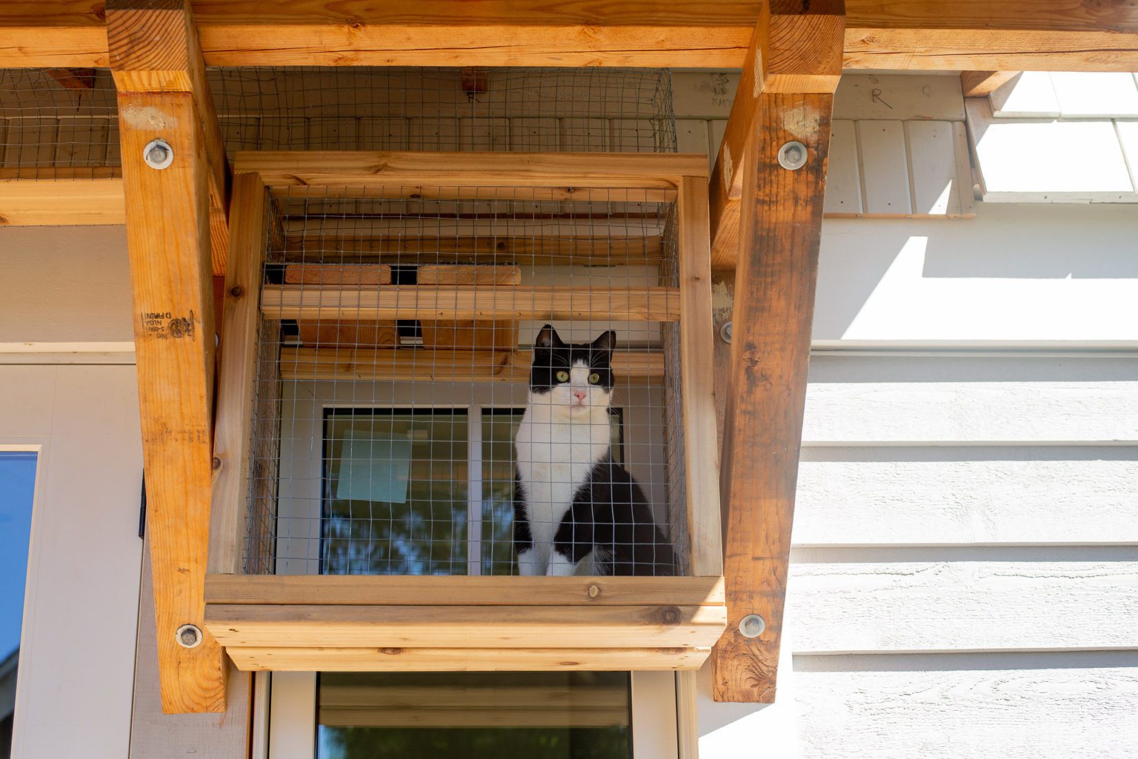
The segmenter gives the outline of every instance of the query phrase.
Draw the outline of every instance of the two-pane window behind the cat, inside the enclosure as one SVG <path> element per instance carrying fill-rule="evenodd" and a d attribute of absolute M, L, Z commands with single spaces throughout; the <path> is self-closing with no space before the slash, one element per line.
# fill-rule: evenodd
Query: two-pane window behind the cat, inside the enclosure
<path fill-rule="evenodd" d="M 324 411 L 322 575 L 513 575 L 520 409 Z M 622 414 L 612 410 L 613 457 Z"/>

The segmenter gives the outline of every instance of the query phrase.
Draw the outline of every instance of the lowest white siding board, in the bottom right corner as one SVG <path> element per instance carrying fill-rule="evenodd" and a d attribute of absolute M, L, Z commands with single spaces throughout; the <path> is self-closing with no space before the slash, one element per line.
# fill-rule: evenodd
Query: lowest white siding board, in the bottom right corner
<path fill-rule="evenodd" d="M 794 663 L 802 757 L 1100 759 L 1138 744 L 1132 652 L 801 655 Z"/>

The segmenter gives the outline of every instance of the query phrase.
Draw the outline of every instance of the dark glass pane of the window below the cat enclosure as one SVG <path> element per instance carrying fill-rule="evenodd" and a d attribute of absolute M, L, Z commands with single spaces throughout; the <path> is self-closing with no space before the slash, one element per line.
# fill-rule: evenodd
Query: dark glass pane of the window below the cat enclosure
<path fill-rule="evenodd" d="M 324 673 L 318 759 L 629 759 L 628 673 Z"/>

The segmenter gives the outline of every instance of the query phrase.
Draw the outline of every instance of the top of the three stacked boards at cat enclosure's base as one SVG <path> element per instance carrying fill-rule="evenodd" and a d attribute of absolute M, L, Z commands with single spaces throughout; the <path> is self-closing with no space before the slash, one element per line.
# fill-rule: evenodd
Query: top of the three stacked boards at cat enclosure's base
<path fill-rule="evenodd" d="M 221 604 L 721 605 L 715 577 L 446 577 L 211 575 L 206 602 Z"/>

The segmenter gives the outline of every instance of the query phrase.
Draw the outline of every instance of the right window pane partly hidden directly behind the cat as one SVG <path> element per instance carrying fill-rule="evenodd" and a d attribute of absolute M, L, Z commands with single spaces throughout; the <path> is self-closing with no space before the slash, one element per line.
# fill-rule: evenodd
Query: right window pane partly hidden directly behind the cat
<path fill-rule="evenodd" d="M 523 410 L 483 410 L 483 574 L 513 575 L 513 438 Z M 622 416 L 613 409 L 612 459 L 624 463 Z"/>

